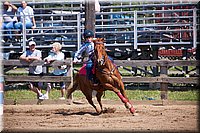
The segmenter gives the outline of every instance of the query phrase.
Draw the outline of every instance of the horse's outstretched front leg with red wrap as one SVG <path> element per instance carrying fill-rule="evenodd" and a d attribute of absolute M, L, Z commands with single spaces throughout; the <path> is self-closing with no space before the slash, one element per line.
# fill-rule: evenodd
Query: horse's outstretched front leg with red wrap
<path fill-rule="evenodd" d="M 129 102 L 128 98 L 125 98 L 117 88 L 113 87 L 111 84 L 108 83 L 105 84 L 105 88 L 113 90 L 121 99 L 121 101 L 125 104 L 126 108 L 128 108 L 132 114 L 135 113 L 135 109 L 133 108 L 133 105 Z"/>

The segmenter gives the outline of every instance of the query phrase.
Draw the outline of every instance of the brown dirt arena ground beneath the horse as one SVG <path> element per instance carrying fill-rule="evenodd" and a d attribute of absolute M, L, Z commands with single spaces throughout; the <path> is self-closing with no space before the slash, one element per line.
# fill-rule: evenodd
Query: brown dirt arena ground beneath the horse
<path fill-rule="evenodd" d="M 187 101 L 131 101 L 132 115 L 121 101 L 103 100 L 107 112 L 97 115 L 85 101 L 65 104 L 64 101 L 24 100 L 12 105 L 5 101 L 5 132 L 199 132 L 198 103 Z M 109 109 L 116 109 L 113 113 Z"/>

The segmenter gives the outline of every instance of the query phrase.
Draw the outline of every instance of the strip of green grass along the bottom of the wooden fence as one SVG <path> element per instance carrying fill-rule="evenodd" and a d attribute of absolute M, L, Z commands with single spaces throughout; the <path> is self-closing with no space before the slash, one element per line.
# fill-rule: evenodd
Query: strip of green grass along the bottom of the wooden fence
<path fill-rule="evenodd" d="M 43 91 L 44 93 L 45 91 Z M 160 100 L 159 90 L 126 90 L 127 96 L 130 100 L 147 100 L 148 98 L 153 98 L 155 100 Z M 52 89 L 50 92 L 50 99 L 58 99 L 60 97 L 59 89 Z M 190 91 L 168 91 L 169 100 L 181 100 L 181 101 L 199 101 L 197 90 Z M 73 93 L 75 99 L 84 98 L 81 91 L 75 91 Z M 36 99 L 36 94 L 31 90 L 20 89 L 20 90 L 9 90 L 4 91 L 4 99 Z M 105 92 L 105 97 L 103 99 L 118 100 L 117 95 L 111 91 Z"/>

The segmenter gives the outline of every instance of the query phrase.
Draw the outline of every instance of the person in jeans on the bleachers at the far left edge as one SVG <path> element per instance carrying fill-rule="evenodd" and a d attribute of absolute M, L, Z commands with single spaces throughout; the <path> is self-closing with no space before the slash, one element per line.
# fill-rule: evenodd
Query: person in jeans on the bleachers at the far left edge
<path fill-rule="evenodd" d="M 17 7 L 15 5 L 11 4 L 8 1 L 5 1 L 3 3 L 2 29 L 7 30 L 5 34 L 9 35 L 4 38 L 6 42 L 12 40 L 12 29 L 14 29 L 14 24 L 17 22 L 17 17 L 15 16 L 16 11 L 17 11 Z"/>

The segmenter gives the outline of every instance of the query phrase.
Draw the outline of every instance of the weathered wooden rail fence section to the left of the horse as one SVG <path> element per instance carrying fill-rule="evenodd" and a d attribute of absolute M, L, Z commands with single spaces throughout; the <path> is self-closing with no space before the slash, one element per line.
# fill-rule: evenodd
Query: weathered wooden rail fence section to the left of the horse
<path fill-rule="evenodd" d="M 34 82 L 61 82 L 64 81 L 66 83 L 73 83 L 73 72 L 72 72 L 72 59 L 68 58 L 64 61 L 54 61 L 52 63 L 46 63 L 43 60 L 33 61 L 27 63 L 25 61 L 20 60 L 2 60 L 2 65 L 4 68 L 4 80 L 10 82 L 26 82 L 26 81 L 34 81 Z M 44 73 L 43 76 L 29 76 L 29 75 L 5 75 L 6 71 L 9 71 L 15 66 L 37 66 L 42 65 L 43 67 L 56 67 L 61 65 L 67 66 L 67 75 L 66 76 L 50 76 L 50 74 Z"/>

